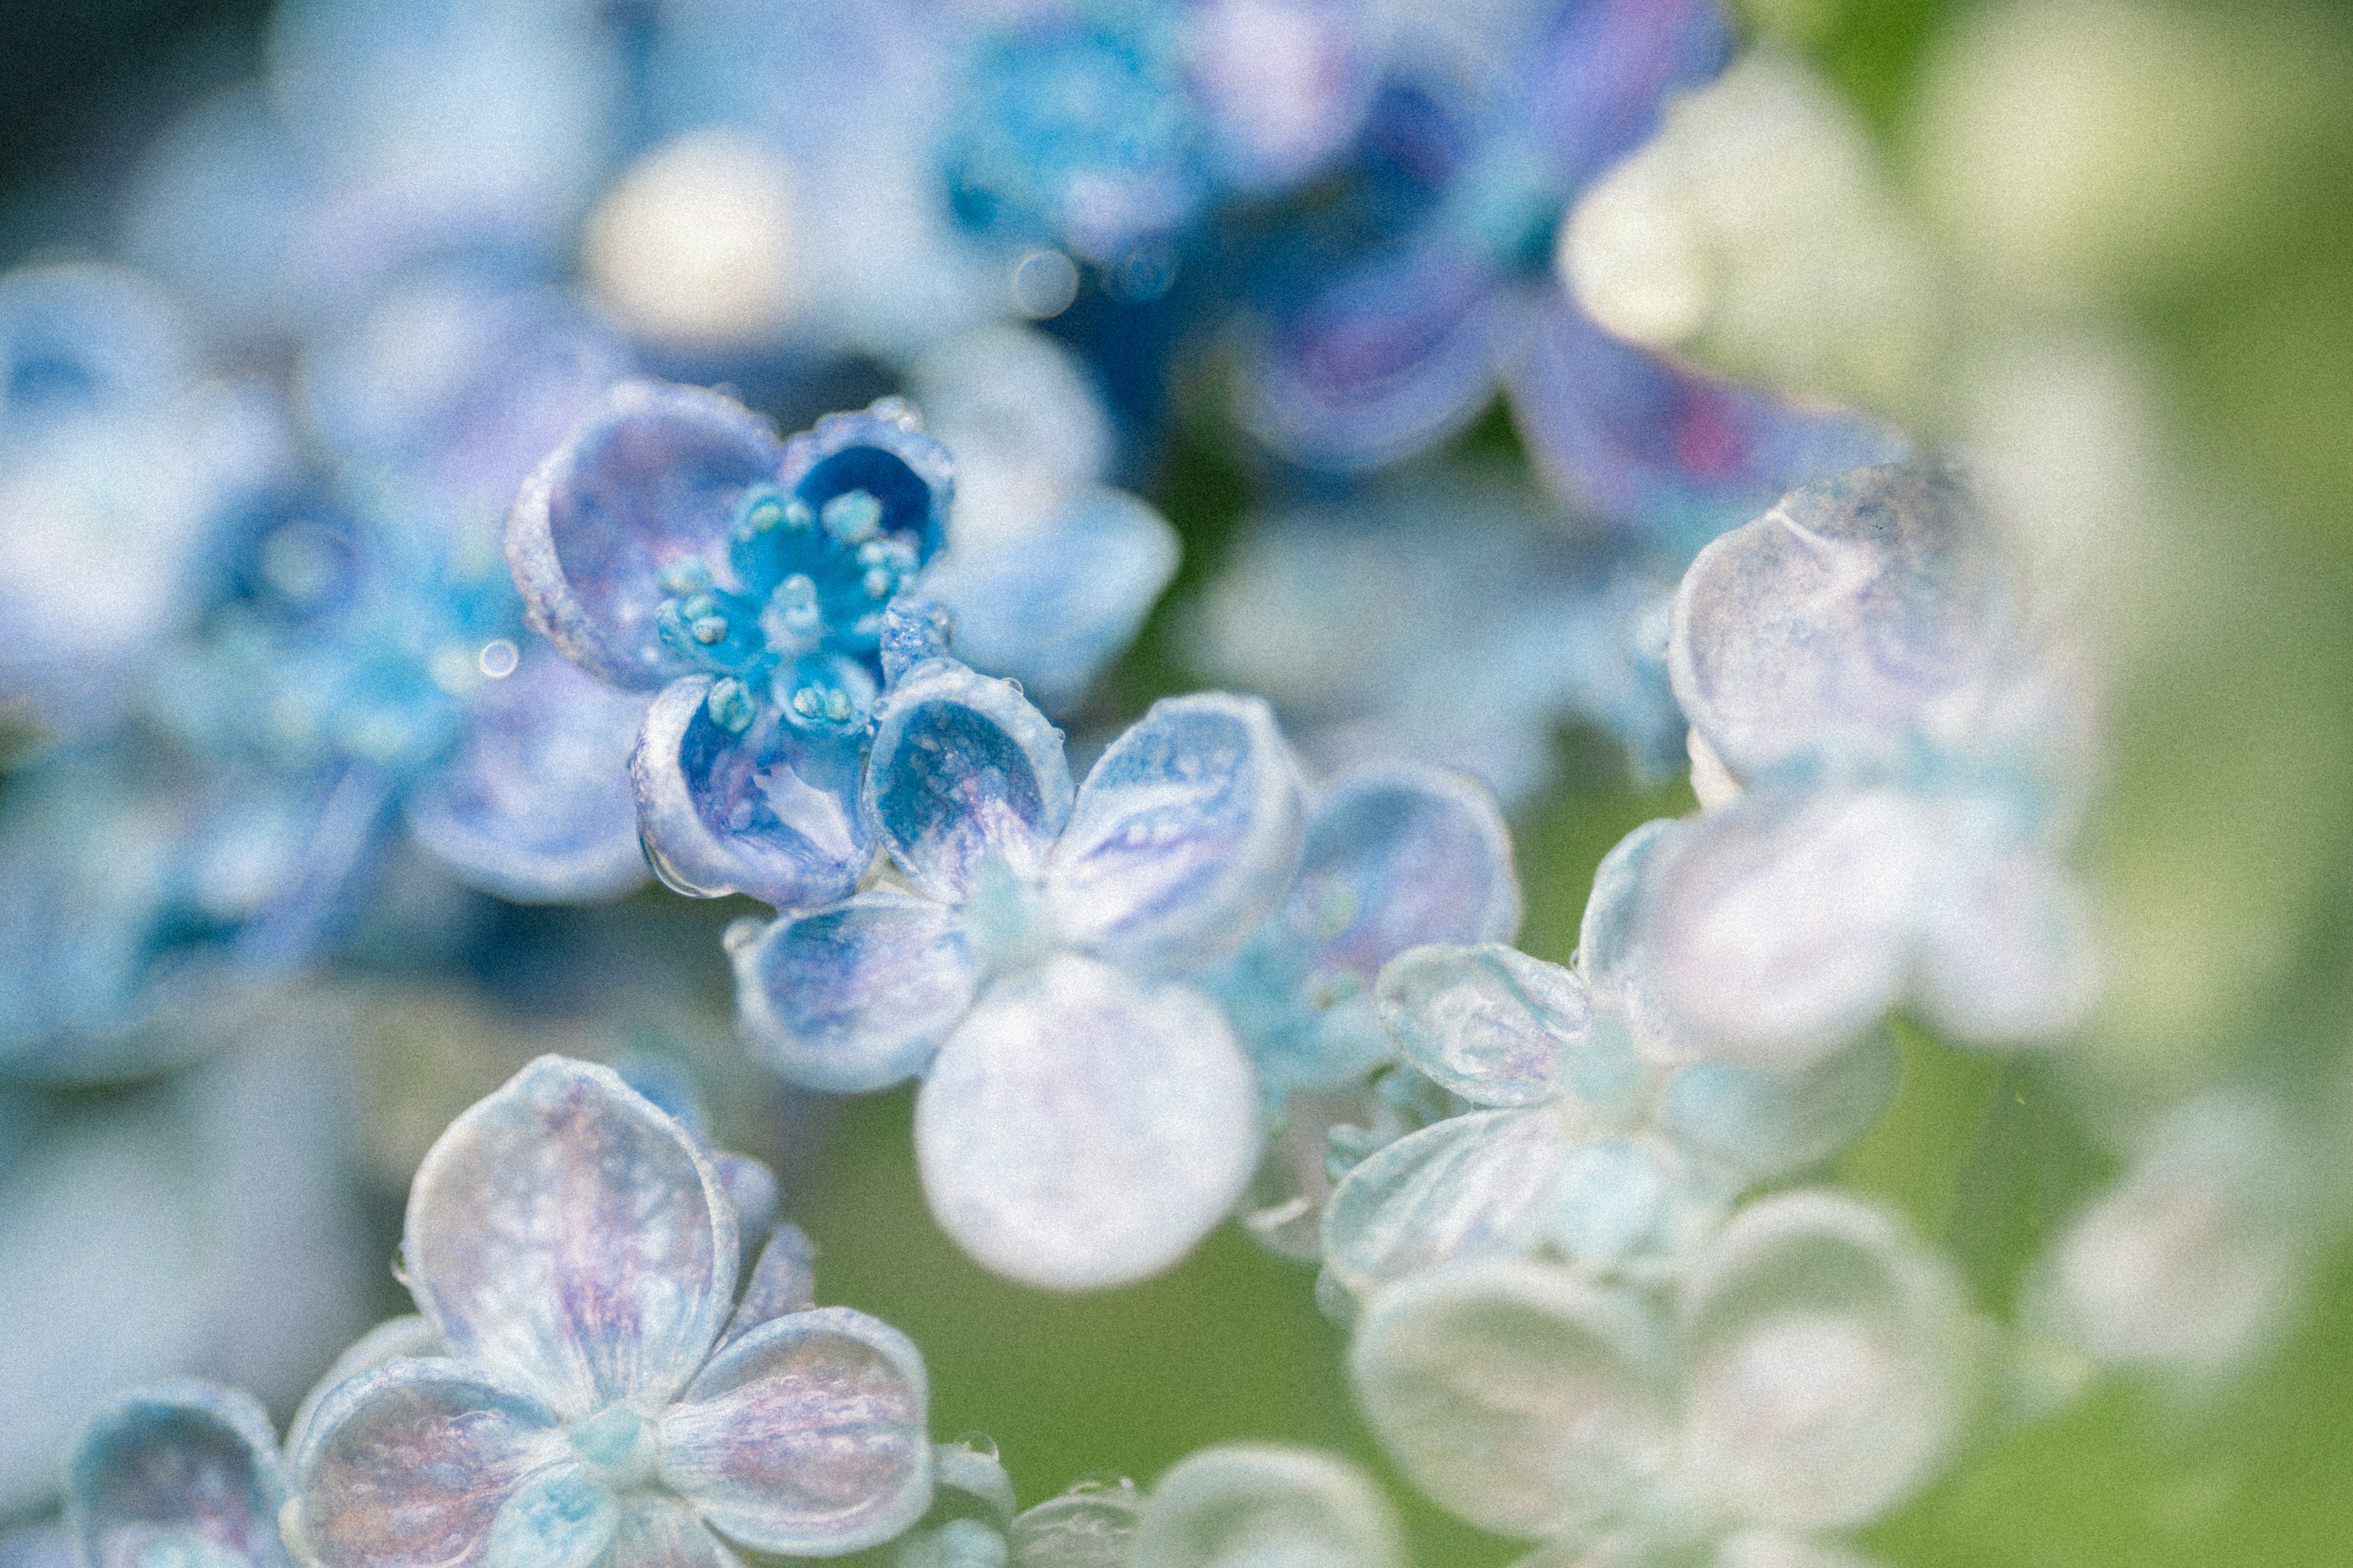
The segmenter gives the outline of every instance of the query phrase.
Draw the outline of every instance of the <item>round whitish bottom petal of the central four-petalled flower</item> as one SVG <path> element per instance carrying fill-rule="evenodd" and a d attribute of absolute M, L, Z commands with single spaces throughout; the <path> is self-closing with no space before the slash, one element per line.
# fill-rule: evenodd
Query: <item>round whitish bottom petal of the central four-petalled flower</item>
<path fill-rule="evenodd" d="M 915 1095 L 941 1227 L 1049 1291 L 1176 1262 L 1242 1197 L 1259 1143 L 1259 1086 L 1217 1006 L 1078 954 L 991 985 Z"/>

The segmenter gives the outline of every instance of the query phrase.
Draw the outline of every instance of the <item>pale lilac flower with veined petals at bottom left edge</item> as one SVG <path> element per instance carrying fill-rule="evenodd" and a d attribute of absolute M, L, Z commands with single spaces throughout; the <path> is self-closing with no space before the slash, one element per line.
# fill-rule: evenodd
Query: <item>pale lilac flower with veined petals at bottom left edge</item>
<path fill-rule="evenodd" d="M 541 1058 L 459 1117 L 402 1260 L 445 1354 L 311 1410 L 301 1561 L 720 1568 L 856 1552 L 929 1505 L 915 1347 L 847 1307 L 739 1307 L 718 1171 L 609 1070 Z"/>

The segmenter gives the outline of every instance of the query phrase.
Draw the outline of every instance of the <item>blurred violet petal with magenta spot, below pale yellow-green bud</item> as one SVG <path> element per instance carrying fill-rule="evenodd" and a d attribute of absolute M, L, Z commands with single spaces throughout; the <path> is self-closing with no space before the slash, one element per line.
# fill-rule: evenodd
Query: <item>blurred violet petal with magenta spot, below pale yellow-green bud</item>
<path fill-rule="evenodd" d="M 1904 456 L 1894 430 L 1673 367 L 1567 299 L 1529 320 L 1506 374 L 1546 482 L 1668 552 L 1697 550 L 1795 484 Z"/>

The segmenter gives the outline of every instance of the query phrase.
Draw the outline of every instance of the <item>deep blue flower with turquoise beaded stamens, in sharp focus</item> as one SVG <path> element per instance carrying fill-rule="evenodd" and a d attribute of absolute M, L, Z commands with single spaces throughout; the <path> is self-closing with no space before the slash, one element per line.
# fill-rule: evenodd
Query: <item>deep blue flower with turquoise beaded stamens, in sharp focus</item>
<path fill-rule="evenodd" d="M 659 691 L 631 762 L 664 879 L 781 907 L 873 858 L 856 773 L 885 611 L 939 550 L 948 454 L 894 402 L 776 442 L 744 407 L 631 381 L 515 501 L 532 625 Z"/>

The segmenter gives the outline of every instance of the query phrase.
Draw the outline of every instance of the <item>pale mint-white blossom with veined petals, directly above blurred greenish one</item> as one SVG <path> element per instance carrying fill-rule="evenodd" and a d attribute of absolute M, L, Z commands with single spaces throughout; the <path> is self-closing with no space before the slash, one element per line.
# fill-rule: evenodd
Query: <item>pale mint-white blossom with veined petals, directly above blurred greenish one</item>
<path fill-rule="evenodd" d="M 1718 1058 L 1657 1006 L 1635 931 L 1680 823 L 1602 860 L 1577 969 L 1501 945 L 1417 947 L 1379 978 L 1398 1053 L 1478 1107 L 1358 1164 L 1325 1208 L 1325 1267 L 1369 1295 L 1449 1258 L 1553 1251 L 1591 1274 L 1685 1267 L 1734 1197 L 1835 1154 L 1887 1107 L 1873 1037 L 1802 1072 Z"/>

